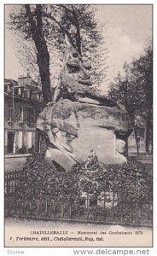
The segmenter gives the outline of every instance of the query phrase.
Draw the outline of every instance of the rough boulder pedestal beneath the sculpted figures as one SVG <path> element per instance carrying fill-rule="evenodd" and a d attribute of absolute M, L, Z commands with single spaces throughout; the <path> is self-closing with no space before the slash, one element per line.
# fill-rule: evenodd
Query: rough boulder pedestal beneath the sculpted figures
<path fill-rule="evenodd" d="M 131 125 L 124 108 L 60 99 L 44 108 L 38 131 L 47 137 L 46 159 L 66 170 L 88 159 L 91 150 L 103 164 L 123 164 Z"/>

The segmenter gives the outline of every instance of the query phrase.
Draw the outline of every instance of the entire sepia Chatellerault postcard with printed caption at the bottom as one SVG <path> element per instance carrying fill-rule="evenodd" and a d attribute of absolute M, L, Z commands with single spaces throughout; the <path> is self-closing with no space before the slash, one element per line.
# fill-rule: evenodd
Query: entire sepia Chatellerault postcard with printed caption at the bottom
<path fill-rule="evenodd" d="M 5 4 L 4 31 L 4 247 L 153 247 L 153 4 Z"/>

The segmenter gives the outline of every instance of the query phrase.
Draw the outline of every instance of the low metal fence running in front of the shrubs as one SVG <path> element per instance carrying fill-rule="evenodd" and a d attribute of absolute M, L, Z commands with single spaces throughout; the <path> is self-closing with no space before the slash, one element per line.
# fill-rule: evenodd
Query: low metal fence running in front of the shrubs
<path fill-rule="evenodd" d="M 152 202 L 134 199 L 130 191 L 103 191 L 101 195 L 22 195 L 17 193 L 21 172 L 5 174 L 5 217 L 61 220 L 96 224 L 152 227 Z"/>

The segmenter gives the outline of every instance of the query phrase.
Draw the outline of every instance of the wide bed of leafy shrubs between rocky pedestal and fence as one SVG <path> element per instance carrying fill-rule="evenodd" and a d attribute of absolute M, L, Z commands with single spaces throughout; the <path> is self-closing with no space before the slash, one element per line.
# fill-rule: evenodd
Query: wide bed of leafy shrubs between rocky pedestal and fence
<path fill-rule="evenodd" d="M 21 173 L 23 176 L 17 189 L 20 196 L 66 196 L 69 200 L 77 200 L 83 191 L 98 196 L 114 190 L 123 200 L 152 200 L 151 176 L 137 160 L 130 159 L 121 166 L 102 166 L 96 155 L 91 155 L 85 164 L 77 164 L 72 170 L 65 171 L 61 166 L 45 161 L 44 153 L 36 153 L 27 158 Z"/>

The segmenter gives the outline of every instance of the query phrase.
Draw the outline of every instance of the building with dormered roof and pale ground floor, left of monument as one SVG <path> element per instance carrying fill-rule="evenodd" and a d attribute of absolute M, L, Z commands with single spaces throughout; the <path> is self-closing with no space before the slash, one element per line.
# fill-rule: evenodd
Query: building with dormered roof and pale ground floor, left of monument
<path fill-rule="evenodd" d="M 38 114 L 43 110 L 42 90 L 29 73 L 18 81 L 5 79 L 4 120 L 5 154 L 26 154 L 38 151 L 36 131 Z"/>

